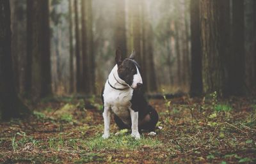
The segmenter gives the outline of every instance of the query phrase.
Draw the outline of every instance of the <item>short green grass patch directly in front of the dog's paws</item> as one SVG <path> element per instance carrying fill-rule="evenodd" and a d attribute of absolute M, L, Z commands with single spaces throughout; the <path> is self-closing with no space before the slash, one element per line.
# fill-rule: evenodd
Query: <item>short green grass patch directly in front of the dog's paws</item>
<path fill-rule="evenodd" d="M 140 140 L 135 140 L 130 135 L 111 135 L 108 139 L 103 139 L 101 135 L 97 137 L 90 138 L 88 141 L 84 142 L 84 145 L 88 147 L 91 151 L 95 150 L 134 150 L 140 147 L 159 147 L 162 144 L 157 138 L 144 137 L 141 135 Z"/>

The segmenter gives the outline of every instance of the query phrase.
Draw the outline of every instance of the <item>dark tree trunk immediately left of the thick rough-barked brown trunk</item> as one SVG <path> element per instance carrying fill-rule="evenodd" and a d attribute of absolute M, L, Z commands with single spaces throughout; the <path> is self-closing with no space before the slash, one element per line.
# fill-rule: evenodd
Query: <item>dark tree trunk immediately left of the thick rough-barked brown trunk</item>
<path fill-rule="evenodd" d="M 191 84 L 190 95 L 200 96 L 202 84 L 202 49 L 200 42 L 199 0 L 190 1 Z"/>

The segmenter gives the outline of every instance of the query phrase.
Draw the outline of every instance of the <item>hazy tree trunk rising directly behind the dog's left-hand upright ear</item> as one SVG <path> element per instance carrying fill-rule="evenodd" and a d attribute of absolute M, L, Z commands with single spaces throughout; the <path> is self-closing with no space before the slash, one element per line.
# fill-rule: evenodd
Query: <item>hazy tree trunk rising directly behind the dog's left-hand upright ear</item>
<path fill-rule="evenodd" d="M 127 57 L 126 30 L 125 30 L 125 1 L 115 1 L 115 46 L 122 50 L 122 57 Z"/>

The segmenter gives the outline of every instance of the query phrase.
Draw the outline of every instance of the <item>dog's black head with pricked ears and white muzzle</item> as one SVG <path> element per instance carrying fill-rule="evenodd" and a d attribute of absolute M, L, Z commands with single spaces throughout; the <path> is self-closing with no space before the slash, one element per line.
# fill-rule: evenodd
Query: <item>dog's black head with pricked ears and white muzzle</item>
<path fill-rule="evenodd" d="M 132 89 L 140 88 L 143 84 L 142 78 L 140 75 L 140 66 L 134 60 L 135 51 L 133 50 L 131 56 L 126 59 L 122 59 L 122 52 L 118 48 L 116 50 L 116 64 L 118 66 L 118 77 L 126 82 Z"/>

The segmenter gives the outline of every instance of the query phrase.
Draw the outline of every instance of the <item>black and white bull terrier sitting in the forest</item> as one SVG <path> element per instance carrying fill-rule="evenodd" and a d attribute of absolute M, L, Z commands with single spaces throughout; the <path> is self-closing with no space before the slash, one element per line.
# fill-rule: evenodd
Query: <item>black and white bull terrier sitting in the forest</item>
<path fill-rule="evenodd" d="M 131 136 L 140 138 L 139 131 L 154 131 L 158 121 L 156 110 L 148 105 L 140 91 L 142 78 L 140 66 L 134 61 L 135 52 L 126 59 L 122 59 L 120 49 L 116 50 L 116 65 L 109 73 L 108 80 L 102 89 L 104 105 L 104 134 L 109 137 L 111 110 L 117 126 L 122 129 L 131 129 Z"/>

